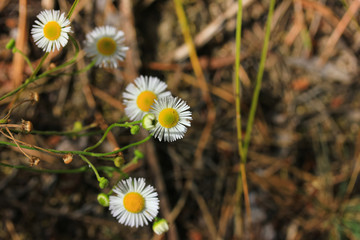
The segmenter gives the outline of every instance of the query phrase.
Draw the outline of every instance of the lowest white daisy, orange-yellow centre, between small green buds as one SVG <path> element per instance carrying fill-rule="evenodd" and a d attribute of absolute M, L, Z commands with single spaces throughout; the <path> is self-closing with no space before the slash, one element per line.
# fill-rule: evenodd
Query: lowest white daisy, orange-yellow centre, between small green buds
<path fill-rule="evenodd" d="M 109 209 L 116 219 L 126 226 L 142 227 L 159 212 L 158 194 L 154 187 L 145 186 L 145 179 L 128 178 L 114 188 L 117 196 L 110 196 Z"/>

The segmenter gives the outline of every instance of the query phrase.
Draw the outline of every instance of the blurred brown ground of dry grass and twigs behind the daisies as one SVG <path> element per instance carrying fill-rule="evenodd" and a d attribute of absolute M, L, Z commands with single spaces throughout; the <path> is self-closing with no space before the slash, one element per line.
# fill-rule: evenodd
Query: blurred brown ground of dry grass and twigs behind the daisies
<path fill-rule="evenodd" d="M 11 115 L 43 131 L 69 131 L 76 121 L 97 129 L 125 120 L 122 92 L 140 74 L 157 76 L 173 95 L 191 107 L 193 121 L 184 139 L 152 139 L 139 149 L 145 158 L 126 169 L 144 177 L 160 195 L 160 217 L 170 221 L 165 236 L 151 225 L 124 227 L 97 203 L 100 193 L 92 172 L 43 174 L 0 167 L 0 239 L 360 239 L 360 27 L 357 0 L 276 1 L 269 52 L 248 154 L 247 179 L 251 223 L 234 224 L 239 172 L 234 61 L 237 2 L 184 0 L 189 29 L 206 84 L 196 78 L 169 0 L 81 0 L 72 16 L 72 35 L 81 47 L 86 33 L 112 25 L 125 32 L 130 47 L 116 70 L 92 68 L 76 76 L 54 76 L 28 86 L 19 96 L 40 95 Z M 42 9 L 68 12 L 73 1 L 0 1 L 0 96 L 31 74 L 17 47 L 33 66 L 43 55 L 30 29 Z M 243 0 L 241 113 L 245 132 L 259 68 L 268 0 Z M 51 53 L 42 71 L 73 57 L 68 44 Z M 73 72 L 90 62 L 80 52 Z M 207 98 L 210 96 L 210 98 Z M 0 102 L 1 116 L 12 98 Z M 214 117 L 215 115 L 215 117 Z M 140 135 L 146 135 L 141 133 Z M 101 133 L 84 137 L 14 134 L 29 144 L 78 150 L 96 143 Z M 140 140 L 114 129 L 97 149 L 112 151 Z M 1 141 L 6 141 L 0 136 Z M 32 153 L 34 168 L 83 166 L 75 158 Z M 126 161 L 133 150 L 124 152 Z M 95 165 L 104 164 L 92 159 Z M 18 148 L 0 147 L 0 161 L 29 163 Z M 109 164 L 109 163 L 106 163 Z M 111 178 L 110 185 L 118 176 Z M 245 211 L 242 213 L 246 219 Z"/>

